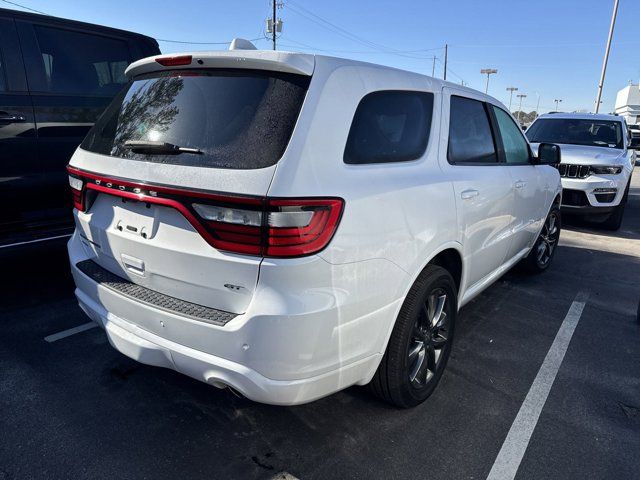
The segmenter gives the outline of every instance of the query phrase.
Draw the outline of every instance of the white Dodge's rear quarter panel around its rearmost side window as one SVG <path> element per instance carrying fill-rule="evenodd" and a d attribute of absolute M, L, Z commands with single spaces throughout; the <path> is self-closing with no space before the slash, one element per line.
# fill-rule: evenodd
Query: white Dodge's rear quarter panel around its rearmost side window
<path fill-rule="evenodd" d="M 406 275 L 389 284 L 384 269 L 357 275 L 377 278 L 381 298 L 404 296 L 417 274 L 442 247 L 456 240 L 452 186 L 438 158 L 439 86 L 428 77 L 376 66 L 316 61 L 316 70 L 289 145 L 277 166 L 269 195 L 337 196 L 345 210 L 335 237 L 320 256 L 332 264 L 383 259 Z M 430 140 L 413 161 L 347 165 L 344 149 L 360 100 L 378 90 L 434 94 Z M 374 282 L 375 283 L 375 282 Z"/>

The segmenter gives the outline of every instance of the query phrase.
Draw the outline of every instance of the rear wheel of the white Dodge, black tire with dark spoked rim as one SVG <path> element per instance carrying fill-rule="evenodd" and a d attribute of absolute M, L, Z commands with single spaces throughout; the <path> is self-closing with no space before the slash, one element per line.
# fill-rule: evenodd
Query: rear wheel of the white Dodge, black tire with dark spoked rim
<path fill-rule="evenodd" d="M 411 287 L 370 390 L 399 408 L 424 402 L 451 353 L 458 296 L 451 274 L 429 265 Z"/>

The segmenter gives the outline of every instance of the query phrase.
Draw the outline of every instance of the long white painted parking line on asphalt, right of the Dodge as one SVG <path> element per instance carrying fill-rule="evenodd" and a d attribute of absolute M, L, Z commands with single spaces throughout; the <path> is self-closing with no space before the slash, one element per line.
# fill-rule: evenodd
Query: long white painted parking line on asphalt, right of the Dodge
<path fill-rule="evenodd" d="M 487 480 L 512 480 L 515 478 L 588 296 L 588 294 L 580 292 L 571 304 L 529 393 L 527 393 L 520 411 L 509 429 L 507 438 L 502 444 Z"/>

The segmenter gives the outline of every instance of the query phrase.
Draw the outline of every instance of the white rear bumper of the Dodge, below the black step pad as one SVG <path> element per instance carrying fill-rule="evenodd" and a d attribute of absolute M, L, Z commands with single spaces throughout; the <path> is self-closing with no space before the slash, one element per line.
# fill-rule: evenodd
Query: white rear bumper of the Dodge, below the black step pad
<path fill-rule="evenodd" d="M 82 309 L 117 350 L 278 405 L 369 382 L 400 308 L 396 295 L 406 275 L 383 260 L 331 265 L 305 257 L 286 266 L 265 260 L 247 311 L 215 325 L 94 281 L 76 266 L 87 259 L 77 233 L 69 256 Z M 394 283 L 398 290 L 392 293 Z"/>

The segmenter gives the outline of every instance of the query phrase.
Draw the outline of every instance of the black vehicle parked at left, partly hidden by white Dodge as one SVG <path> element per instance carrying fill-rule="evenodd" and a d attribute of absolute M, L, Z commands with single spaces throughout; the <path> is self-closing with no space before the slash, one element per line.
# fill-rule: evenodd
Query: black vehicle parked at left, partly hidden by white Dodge
<path fill-rule="evenodd" d="M 65 170 L 149 37 L 0 9 L 0 244 L 71 233 Z"/>

